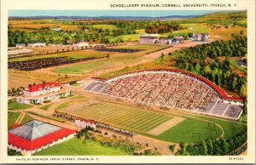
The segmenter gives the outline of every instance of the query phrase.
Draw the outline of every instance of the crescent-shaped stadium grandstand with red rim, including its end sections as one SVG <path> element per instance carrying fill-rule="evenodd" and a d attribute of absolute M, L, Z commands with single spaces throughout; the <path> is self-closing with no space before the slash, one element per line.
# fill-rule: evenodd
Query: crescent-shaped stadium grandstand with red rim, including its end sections
<path fill-rule="evenodd" d="M 108 95 L 142 105 L 159 105 L 237 120 L 243 99 L 224 92 L 215 83 L 189 71 L 151 69 L 102 79 L 92 77 L 87 92 Z"/>

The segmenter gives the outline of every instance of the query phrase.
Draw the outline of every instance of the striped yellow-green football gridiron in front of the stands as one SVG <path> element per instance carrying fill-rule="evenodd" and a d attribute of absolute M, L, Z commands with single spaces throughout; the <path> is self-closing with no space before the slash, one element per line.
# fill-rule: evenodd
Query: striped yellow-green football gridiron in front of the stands
<path fill-rule="evenodd" d="M 170 120 L 172 117 L 152 111 L 118 105 L 109 102 L 101 102 L 90 107 L 67 111 L 75 116 L 94 119 L 98 122 L 109 123 L 119 128 L 147 132 Z"/>

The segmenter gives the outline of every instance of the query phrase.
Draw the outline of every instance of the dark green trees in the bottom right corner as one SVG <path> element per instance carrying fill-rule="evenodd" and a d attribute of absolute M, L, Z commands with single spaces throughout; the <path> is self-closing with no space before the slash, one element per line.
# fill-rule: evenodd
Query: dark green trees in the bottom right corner
<path fill-rule="evenodd" d="M 181 144 L 181 149 L 178 151 L 178 155 L 224 156 L 228 155 L 231 151 L 236 150 L 236 148 L 244 144 L 246 141 L 247 131 L 244 131 L 231 139 L 206 139 L 197 145 Z"/>

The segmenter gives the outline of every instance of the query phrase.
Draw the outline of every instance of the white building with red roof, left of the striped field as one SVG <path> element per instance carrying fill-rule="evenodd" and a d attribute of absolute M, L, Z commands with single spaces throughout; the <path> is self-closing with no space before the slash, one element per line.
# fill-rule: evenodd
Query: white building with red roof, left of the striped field
<path fill-rule="evenodd" d="M 41 104 L 44 101 L 55 100 L 60 97 L 67 97 L 71 94 L 60 83 L 50 82 L 37 85 L 29 85 L 23 90 L 23 95 L 16 98 L 17 102 L 23 104 Z"/>

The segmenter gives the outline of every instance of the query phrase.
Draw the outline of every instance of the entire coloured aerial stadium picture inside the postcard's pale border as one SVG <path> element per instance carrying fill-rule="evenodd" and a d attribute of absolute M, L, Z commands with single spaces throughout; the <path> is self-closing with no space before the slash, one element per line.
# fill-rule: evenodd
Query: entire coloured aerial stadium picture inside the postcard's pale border
<path fill-rule="evenodd" d="M 9 156 L 247 156 L 246 10 L 9 10 Z"/>

